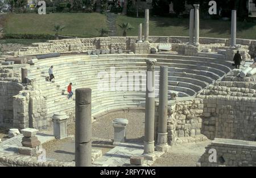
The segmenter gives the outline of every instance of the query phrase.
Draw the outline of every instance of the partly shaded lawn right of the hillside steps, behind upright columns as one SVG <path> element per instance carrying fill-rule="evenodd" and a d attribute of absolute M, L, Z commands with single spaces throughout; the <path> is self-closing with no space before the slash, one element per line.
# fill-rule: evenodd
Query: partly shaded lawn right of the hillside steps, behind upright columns
<path fill-rule="evenodd" d="M 144 23 L 144 18 L 133 18 L 119 15 L 117 24 L 129 22 L 134 27 L 127 32 L 127 36 L 138 35 L 139 23 Z M 224 20 L 200 20 L 200 36 L 211 38 L 230 38 L 231 22 Z M 122 35 L 118 27 L 118 35 Z M 151 36 L 189 36 L 189 19 L 185 18 L 150 18 Z M 256 39 L 256 22 L 237 22 L 237 38 Z"/>

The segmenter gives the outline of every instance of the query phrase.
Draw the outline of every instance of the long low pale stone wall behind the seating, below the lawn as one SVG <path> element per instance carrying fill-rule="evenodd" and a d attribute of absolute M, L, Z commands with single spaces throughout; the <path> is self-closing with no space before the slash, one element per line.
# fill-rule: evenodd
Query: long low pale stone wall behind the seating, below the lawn
<path fill-rule="evenodd" d="M 23 47 L 17 52 L 10 52 L 10 55 L 36 55 L 41 53 L 52 52 L 84 52 L 94 49 L 122 49 L 123 51 L 130 51 L 131 45 L 138 40 L 137 36 L 112 36 L 101 38 L 77 38 L 77 39 L 63 39 L 63 40 L 48 40 L 47 43 L 34 43 L 32 47 Z M 150 43 L 172 43 L 173 51 L 184 54 L 184 44 L 187 43 L 189 38 L 187 36 L 150 36 Z M 216 51 L 217 49 L 224 49 L 222 45 L 229 47 L 229 39 L 220 38 L 200 38 L 200 49 L 205 48 L 204 44 L 209 45 L 207 48 Z M 219 45 L 217 45 L 219 44 Z M 256 40 L 237 39 L 237 44 L 248 45 L 249 53 L 255 57 Z M 195 51 L 187 52 L 187 54 L 195 53 Z"/>

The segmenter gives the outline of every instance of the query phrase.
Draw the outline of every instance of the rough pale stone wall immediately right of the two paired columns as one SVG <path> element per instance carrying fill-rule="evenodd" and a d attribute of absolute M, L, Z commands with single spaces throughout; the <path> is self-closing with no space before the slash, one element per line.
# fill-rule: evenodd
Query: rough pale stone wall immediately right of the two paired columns
<path fill-rule="evenodd" d="M 201 134 L 203 100 L 189 99 L 173 101 L 168 104 L 167 133 L 168 144 L 179 142 L 179 138 L 192 137 Z M 158 103 L 155 107 L 155 140 L 158 133 Z"/>

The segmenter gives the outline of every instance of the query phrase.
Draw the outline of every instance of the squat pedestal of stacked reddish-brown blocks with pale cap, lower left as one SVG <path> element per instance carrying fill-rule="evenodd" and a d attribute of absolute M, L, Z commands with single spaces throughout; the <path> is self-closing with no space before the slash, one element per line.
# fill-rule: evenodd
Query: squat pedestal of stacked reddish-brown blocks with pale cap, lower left
<path fill-rule="evenodd" d="M 21 133 L 23 134 L 22 138 L 22 147 L 18 148 L 19 154 L 34 156 L 38 150 L 42 147 L 38 137 L 35 136 L 38 130 L 36 129 L 23 129 Z"/>

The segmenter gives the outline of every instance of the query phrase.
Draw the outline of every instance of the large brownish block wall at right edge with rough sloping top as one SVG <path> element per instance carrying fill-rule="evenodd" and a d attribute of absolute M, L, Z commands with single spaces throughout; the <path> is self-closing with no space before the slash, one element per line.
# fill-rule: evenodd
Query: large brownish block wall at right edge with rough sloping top
<path fill-rule="evenodd" d="M 255 82 L 221 81 L 201 91 L 202 133 L 209 139 L 256 139 Z"/>

